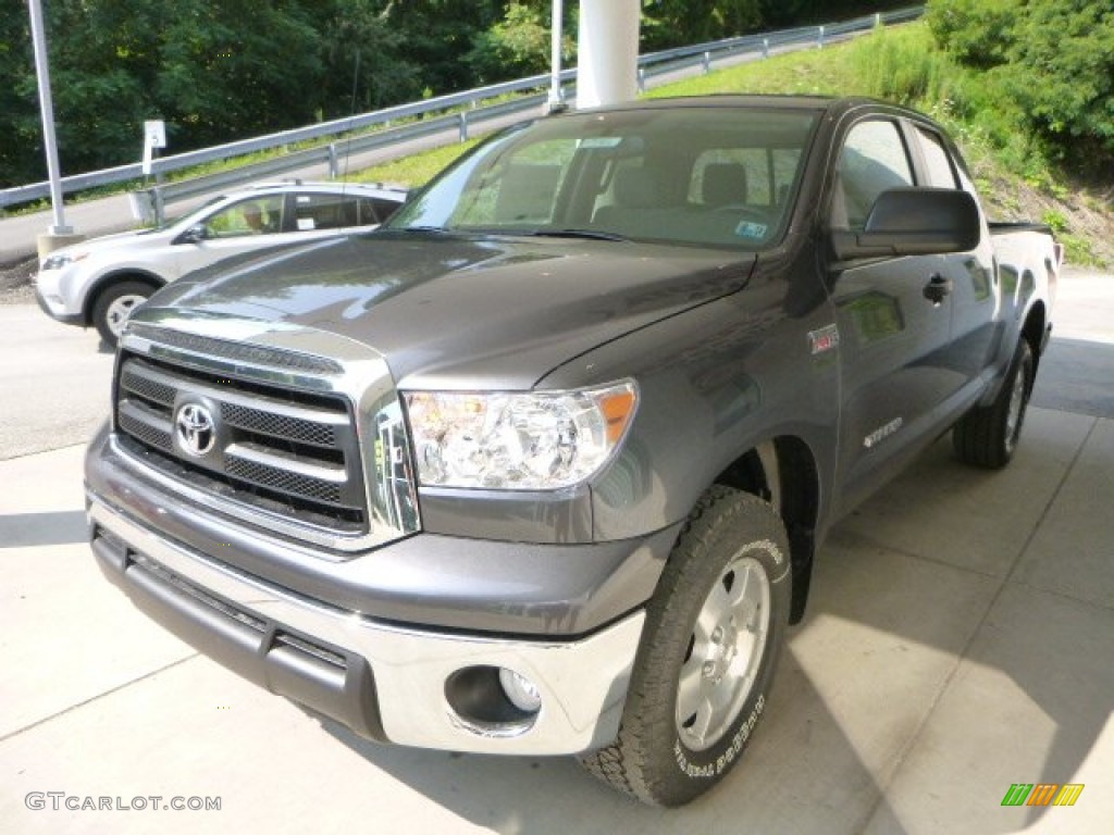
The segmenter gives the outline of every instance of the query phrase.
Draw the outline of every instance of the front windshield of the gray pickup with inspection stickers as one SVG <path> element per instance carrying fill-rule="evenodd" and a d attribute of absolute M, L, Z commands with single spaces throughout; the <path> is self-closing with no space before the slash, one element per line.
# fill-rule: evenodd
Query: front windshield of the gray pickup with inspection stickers
<path fill-rule="evenodd" d="M 781 237 L 815 119 L 726 106 L 543 119 L 479 146 L 388 226 L 761 249 Z"/>

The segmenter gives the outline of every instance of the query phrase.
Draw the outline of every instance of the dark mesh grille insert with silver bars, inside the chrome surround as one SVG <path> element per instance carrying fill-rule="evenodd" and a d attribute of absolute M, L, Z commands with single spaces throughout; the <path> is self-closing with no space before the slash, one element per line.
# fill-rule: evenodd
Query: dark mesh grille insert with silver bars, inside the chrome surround
<path fill-rule="evenodd" d="M 118 381 L 117 436 L 149 466 L 260 513 L 345 536 L 369 530 L 352 410 L 340 395 L 127 353 Z M 178 425 L 188 404 L 209 416 L 212 449 L 190 449 Z"/>

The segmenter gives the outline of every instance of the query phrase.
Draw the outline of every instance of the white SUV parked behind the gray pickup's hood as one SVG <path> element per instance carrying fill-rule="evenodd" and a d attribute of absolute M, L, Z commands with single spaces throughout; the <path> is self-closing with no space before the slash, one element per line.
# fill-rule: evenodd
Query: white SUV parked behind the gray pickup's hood
<path fill-rule="evenodd" d="M 92 325 L 115 347 L 131 310 L 167 282 L 233 255 L 373 228 L 405 197 L 401 188 L 356 183 L 254 186 L 154 229 L 51 253 L 36 296 L 59 322 Z"/>

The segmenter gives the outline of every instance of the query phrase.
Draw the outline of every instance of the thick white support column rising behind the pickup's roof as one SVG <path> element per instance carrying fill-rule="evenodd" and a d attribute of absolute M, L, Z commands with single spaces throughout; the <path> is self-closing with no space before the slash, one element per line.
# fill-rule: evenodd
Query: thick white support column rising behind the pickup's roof
<path fill-rule="evenodd" d="M 578 108 L 638 95 L 639 0 L 580 0 Z"/>

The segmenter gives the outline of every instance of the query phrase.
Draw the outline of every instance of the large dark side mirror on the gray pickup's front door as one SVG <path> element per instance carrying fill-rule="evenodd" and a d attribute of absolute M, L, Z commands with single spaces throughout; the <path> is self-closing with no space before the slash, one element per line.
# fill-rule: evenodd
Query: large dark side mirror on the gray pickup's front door
<path fill-rule="evenodd" d="M 978 246 L 978 204 L 952 188 L 891 188 L 874 200 L 861 232 L 832 233 L 840 261 L 962 253 Z"/>

